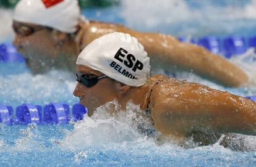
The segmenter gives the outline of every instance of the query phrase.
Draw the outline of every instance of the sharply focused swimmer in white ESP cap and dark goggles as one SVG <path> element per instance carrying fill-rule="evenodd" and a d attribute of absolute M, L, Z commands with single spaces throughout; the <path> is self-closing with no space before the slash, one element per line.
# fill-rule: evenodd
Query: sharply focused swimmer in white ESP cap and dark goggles
<path fill-rule="evenodd" d="M 147 52 L 128 34 L 110 33 L 95 39 L 76 63 L 74 96 L 88 108 L 89 116 L 112 100 L 123 109 L 132 100 L 150 114 L 163 137 L 177 141 L 196 134 L 203 134 L 202 141 L 213 133 L 256 135 L 255 102 L 202 84 L 163 75 L 148 77 Z"/>

